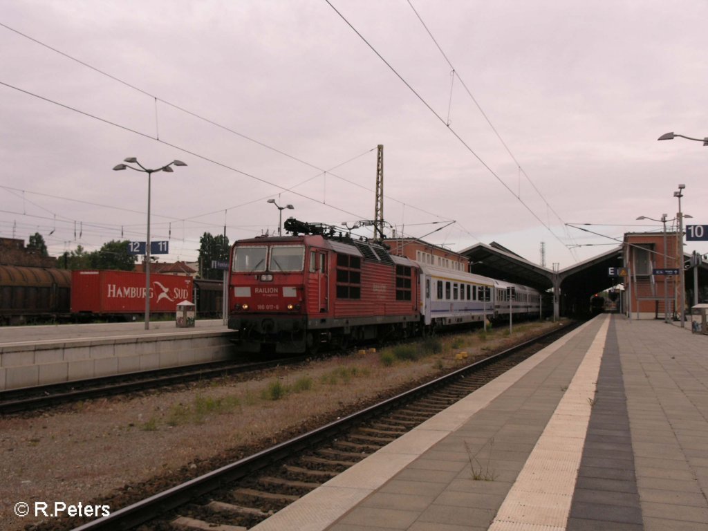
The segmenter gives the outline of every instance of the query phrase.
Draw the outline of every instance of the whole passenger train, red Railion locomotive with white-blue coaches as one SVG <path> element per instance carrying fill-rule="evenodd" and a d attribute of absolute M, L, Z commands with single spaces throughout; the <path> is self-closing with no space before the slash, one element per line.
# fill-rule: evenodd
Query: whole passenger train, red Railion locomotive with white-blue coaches
<path fill-rule="evenodd" d="M 326 343 L 541 312 L 541 294 L 530 287 L 424 265 L 347 237 L 244 239 L 232 246 L 230 265 L 229 328 L 241 352 L 314 352 Z"/>

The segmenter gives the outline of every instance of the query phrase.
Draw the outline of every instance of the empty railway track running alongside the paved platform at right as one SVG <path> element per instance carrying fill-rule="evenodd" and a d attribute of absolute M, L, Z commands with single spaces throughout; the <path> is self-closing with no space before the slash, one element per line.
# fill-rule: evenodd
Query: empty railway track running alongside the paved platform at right
<path fill-rule="evenodd" d="M 76 530 L 248 530 L 529 358 L 572 328 L 573 325 L 565 326 L 492 355 L 116 510 L 110 516 L 81 525 Z"/>

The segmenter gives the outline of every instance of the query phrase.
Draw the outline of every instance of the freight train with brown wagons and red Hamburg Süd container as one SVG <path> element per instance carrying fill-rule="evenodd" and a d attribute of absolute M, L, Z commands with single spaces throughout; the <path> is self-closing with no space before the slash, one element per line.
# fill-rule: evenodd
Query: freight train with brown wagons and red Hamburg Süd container
<path fill-rule="evenodd" d="M 187 299 L 198 316 L 221 316 L 220 280 L 159 273 L 150 280 L 151 314 L 174 315 L 176 304 Z M 0 265 L 2 325 L 132 319 L 144 313 L 144 297 L 144 273 Z"/>

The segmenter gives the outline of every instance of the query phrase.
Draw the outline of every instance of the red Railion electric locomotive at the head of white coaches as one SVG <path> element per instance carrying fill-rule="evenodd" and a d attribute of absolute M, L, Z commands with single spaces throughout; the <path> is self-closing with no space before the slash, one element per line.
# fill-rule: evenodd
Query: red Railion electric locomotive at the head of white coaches
<path fill-rule="evenodd" d="M 229 328 L 238 331 L 237 350 L 315 352 L 323 343 L 418 332 L 415 263 L 369 241 L 295 234 L 232 246 Z"/>

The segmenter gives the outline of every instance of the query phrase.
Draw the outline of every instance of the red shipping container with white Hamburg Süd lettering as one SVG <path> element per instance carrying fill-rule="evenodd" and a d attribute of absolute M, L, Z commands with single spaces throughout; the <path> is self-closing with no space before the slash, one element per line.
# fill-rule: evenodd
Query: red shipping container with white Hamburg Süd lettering
<path fill-rule="evenodd" d="M 192 278 L 150 275 L 150 312 L 174 313 L 177 304 L 192 302 Z M 145 312 L 145 273 L 114 270 L 72 271 L 72 312 L 142 314 Z"/>

